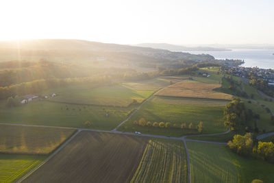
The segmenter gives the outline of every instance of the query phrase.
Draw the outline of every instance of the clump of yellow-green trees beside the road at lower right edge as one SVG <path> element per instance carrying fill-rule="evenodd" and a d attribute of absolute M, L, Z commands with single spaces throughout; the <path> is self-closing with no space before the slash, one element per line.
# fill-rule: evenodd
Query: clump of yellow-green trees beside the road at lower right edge
<path fill-rule="evenodd" d="M 257 143 L 251 133 L 244 136 L 237 134 L 227 145 L 240 156 L 253 156 L 274 163 L 274 144 L 262 141 Z"/>

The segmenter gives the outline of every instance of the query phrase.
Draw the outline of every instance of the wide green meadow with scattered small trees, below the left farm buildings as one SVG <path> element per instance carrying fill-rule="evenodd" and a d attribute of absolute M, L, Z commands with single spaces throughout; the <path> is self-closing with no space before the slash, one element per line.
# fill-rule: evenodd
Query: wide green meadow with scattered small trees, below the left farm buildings
<path fill-rule="evenodd" d="M 32 101 L 24 106 L 8 108 L 5 101 L 0 102 L 1 122 L 85 127 L 84 122 L 90 121 L 90 128 L 103 130 L 112 130 L 127 118 L 130 110 L 132 107 L 83 106 L 49 101 Z"/>

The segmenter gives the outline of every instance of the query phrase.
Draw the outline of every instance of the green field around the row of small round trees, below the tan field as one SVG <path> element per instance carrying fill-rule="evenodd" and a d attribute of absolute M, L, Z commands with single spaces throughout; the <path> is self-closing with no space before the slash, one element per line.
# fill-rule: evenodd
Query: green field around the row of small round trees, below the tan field
<path fill-rule="evenodd" d="M 174 104 L 172 104 L 172 100 Z M 223 106 L 220 106 L 222 101 L 216 101 L 216 105 L 212 105 L 213 101 L 201 100 L 200 104 L 197 104 L 197 100 L 186 99 L 182 102 L 176 97 L 169 97 L 166 101 L 163 97 L 153 97 L 153 99 L 147 101 L 129 121 L 123 124 L 119 130 L 127 132 L 142 132 L 149 134 L 160 134 L 168 136 L 183 136 L 186 134 L 196 134 L 197 130 L 195 126 L 200 121 L 203 121 L 203 133 L 216 133 L 225 132 L 226 128 L 223 125 Z M 181 103 L 181 104 L 177 104 Z M 135 120 L 145 118 L 146 121 L 153 122 L 170 122 L 176 123 L 177 128 L 160 128 L 160 127 L 142 127 L 140 125 L 134 125 Z M 179 126 L 182 123 L 193 124 L 192 130 L 180 129 Z"/>

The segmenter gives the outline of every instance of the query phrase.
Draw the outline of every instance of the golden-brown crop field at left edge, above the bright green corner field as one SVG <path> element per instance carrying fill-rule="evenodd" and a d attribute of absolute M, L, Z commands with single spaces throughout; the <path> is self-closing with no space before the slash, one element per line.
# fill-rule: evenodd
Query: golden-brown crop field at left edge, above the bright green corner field
<path fill-rule="evenodd" d="M 75 130 L 0 124 L 0 153 L 49 154 Z"/>

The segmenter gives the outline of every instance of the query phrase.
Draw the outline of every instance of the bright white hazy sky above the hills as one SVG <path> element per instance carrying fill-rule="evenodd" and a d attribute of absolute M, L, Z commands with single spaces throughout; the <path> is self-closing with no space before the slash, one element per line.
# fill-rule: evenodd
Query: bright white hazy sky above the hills
<path fill-rule="evenodd" d="M 274 43 L 273 0 L 3 0 L 0 40 Z"/>

